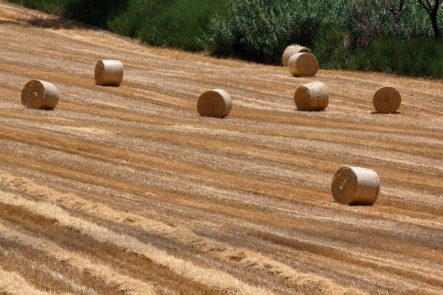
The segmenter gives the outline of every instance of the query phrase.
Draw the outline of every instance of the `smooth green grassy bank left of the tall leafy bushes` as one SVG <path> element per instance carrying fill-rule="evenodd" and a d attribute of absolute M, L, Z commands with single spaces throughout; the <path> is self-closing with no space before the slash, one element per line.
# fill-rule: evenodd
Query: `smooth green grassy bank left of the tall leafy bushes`
<path fill-rule="evenodd" d="M 201 51 L 199 38 L 228 0 L 9 0 L 154 46 Z"/>

